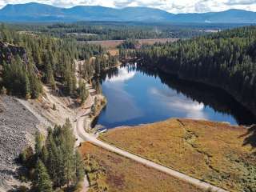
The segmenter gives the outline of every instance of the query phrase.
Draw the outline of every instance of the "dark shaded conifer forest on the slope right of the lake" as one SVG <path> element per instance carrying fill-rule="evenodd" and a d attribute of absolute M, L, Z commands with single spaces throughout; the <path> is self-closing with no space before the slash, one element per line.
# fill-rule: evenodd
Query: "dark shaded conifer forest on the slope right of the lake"
<path fill-rule="evenodd" d="M 221 87 L 256 114 L 255 26 L 147 46 L 135 54 L 143 66 Z"/>

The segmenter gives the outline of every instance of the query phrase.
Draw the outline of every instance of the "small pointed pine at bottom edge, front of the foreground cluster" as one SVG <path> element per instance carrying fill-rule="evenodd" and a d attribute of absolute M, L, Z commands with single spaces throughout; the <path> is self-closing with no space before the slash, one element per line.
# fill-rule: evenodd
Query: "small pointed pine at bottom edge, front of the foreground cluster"
<path fill-rule="evenodd" d="M 47 174 L 46 167 L 41 160 L 38 160 L 37 164 L 37 191 L 38 192 L 52 192 L 52 184 L 50 181 L 50 176 Z"/>

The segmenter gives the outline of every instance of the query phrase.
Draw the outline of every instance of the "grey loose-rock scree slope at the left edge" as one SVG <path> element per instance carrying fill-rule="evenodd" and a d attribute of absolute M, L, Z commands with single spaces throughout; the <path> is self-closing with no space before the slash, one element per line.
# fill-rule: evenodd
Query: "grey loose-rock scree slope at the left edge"
<path fill-rule="evenodd" d="M 15 158 L 29 145 L 38 124 L 38 118 L 15 98 L 0 97 L 0 191 L 16 184 Z"/>

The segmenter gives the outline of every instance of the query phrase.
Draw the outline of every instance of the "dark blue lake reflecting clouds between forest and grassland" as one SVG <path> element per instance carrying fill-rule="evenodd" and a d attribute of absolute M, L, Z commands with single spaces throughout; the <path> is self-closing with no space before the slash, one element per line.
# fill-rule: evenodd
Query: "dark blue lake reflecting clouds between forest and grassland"
<path fill-rule="evenodd" d="M 99 80 L 107 105 L 96 124 L 104 128 L 134 126 L 167 118 L 207 119 L 249 125 L 253 114 L 225 91 L 172 75 L 126 64 Z"/>

